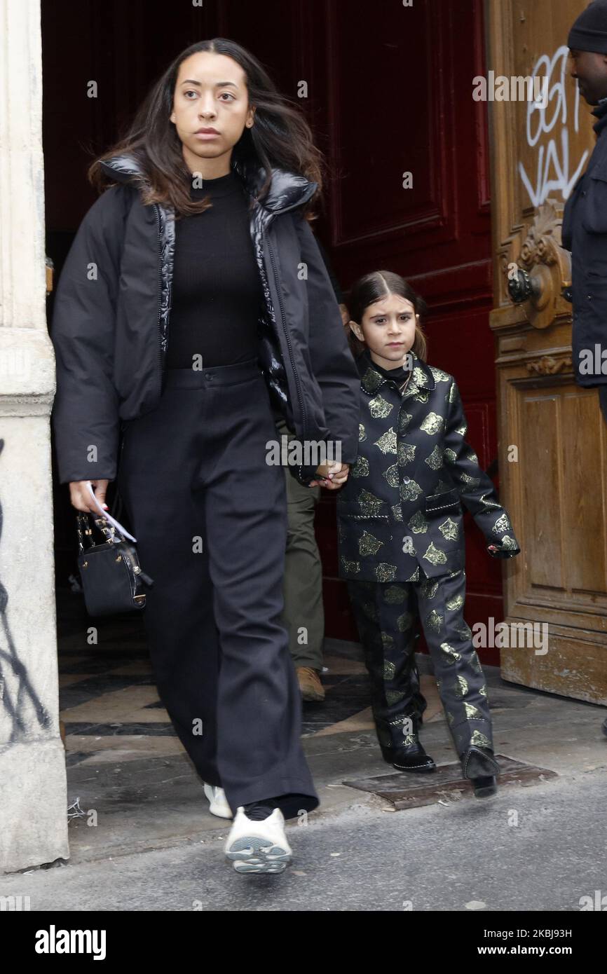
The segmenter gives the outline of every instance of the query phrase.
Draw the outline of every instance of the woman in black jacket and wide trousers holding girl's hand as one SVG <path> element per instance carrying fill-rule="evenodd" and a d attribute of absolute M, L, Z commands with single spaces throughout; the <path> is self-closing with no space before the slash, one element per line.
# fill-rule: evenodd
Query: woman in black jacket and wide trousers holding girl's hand
<path fill-rule="evenodd" d="M 88 484 L 104 504 L 117 475 L 155 580 L 144 618 L 161 699 L 211 811 L 237 810 L 228 858 L 281 872 L 285 817 L 319 799 L 281 618 L 272 407 L 302 446 L 341 445 L 330 468 L 295 456 L 301 483 L 343 484 L 358 440 L 358 373 L 303 210 L 319 153 L 260 64 L 219 38 L 175 58 L 90 178 L 111 185 L 53 321 L 59 481 L 96 510 Z"/>

